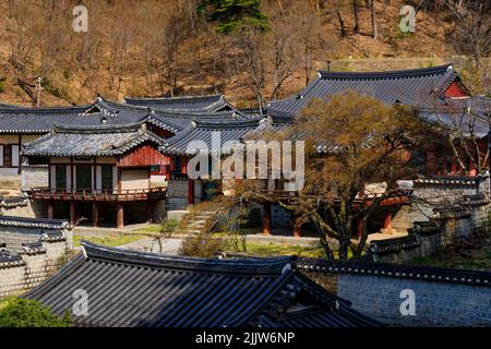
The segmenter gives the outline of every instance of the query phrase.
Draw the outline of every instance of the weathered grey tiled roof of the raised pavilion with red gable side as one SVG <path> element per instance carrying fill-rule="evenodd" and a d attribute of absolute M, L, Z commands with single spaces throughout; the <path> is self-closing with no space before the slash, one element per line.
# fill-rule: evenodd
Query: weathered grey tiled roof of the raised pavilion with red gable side
<path fill-rule="evenodd" d="M 163 145 L 164 140 L 143 123 L 100 127 L 61 127 L 23 147 L 26 156 L 116 156 L 145 143 Z"/>

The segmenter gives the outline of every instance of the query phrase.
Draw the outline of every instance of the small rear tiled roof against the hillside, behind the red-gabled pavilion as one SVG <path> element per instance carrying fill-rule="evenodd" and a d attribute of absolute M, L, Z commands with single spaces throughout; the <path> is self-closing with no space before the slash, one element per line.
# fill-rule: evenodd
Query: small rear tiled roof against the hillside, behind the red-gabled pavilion
<path fill-rule="evenodd" d="M 224 95 L 132 98 L 125 97 L 125 103 L 133 106 L 149 107 L 152 109 L 195 110 L 195 111 L 221 111 L 232 107 L 225 100 Z"/>

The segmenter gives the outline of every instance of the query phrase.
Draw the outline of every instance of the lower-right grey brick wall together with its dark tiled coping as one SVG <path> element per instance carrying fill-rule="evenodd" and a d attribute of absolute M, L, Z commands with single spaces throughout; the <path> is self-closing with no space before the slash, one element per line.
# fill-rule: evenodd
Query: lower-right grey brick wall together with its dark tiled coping
<path fill-rule="evenodd" d="M 387 326 L 491 326 L 490 272 L 312 258 L 297 267 Z"/>

